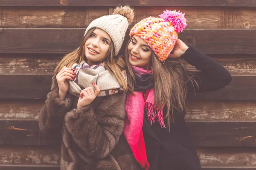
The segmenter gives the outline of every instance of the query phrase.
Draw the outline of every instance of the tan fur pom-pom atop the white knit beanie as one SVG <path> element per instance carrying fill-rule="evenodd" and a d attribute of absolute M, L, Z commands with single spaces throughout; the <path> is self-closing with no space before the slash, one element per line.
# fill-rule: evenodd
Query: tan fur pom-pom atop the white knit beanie
<path fill-rule="evenodd" d="M 134 9 L 131 8 L 130 6 L 118 6 L 114 9 L 112 15 L 122 15 L 125 18 L 127 18 L 129 25 L 133 22 L 134 20 Z"/>

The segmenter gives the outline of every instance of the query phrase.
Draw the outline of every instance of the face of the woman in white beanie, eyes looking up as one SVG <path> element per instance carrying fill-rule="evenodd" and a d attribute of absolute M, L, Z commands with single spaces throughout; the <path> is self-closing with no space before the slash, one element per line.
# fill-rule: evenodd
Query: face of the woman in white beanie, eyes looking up
<path fill-rule="evenodd" d="M 84 54 L 88 65 L 95 65 L 108 54 L 111 37 L 102 29 L 96 28 L 84 43 Z"/>

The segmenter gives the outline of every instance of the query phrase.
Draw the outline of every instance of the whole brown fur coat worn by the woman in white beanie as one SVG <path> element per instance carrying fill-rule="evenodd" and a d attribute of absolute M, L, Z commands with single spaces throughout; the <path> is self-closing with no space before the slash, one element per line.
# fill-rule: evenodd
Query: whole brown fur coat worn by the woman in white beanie
<path fill-rule="evenodd" d="M 39 115 L 43 133 L 61 133 L 61 170 L 140 170 L 123 136 L 126 94 L 96 97 L 76 110 L 78 97 L 58 98 L 53 80 L 51 92 Z"/>

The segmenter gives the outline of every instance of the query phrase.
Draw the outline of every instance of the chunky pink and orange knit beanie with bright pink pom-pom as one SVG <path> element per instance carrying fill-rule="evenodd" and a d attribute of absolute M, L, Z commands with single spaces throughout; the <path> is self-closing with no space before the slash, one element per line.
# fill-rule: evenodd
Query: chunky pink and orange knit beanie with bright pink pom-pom
<path fill-rule="evenodd" d="M 152 48 L 160 61 L 166 60 L 174 48 L 178 33 L 186 27 L 186 19 L 180 11 L 163 11 L 158 17 L 148 17 L 137 23 L 130 37 L 141 37 Z"/>

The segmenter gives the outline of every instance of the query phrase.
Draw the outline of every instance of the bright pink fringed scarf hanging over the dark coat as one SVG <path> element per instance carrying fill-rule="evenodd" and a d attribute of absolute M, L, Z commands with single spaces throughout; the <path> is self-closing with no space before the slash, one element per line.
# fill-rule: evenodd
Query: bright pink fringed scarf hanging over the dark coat
<path fill-rule="evenodd" d="M 143 68 L 134 66 L 132 66 L 132 68 L 134 74 L 137 74 L 139 77 L 152 73 L 152 70 L 146 71 Z M 134 91 L 134 95 L 127 95 L 125 103 L 127 119 L 124 127 L 124 135 L 137 162 L 144 170 L 148 170 L 150 165 L 147 161 L 142 130 L 145 107 L 147 108 L 147 115 L 150 124 L 152 125 L 155 117 L 157 117 L 161 127 L 165 127 L 163 122 L 163 108 L 159 109 L 154 105 L 154 88 L 146 90 L 144 97 L 143 91 Z"/>

